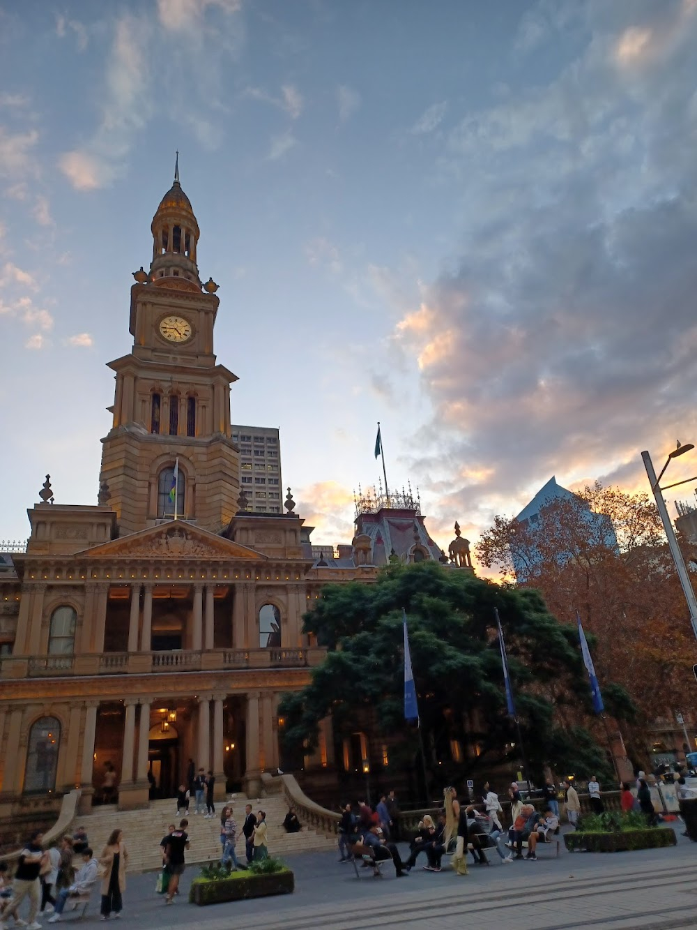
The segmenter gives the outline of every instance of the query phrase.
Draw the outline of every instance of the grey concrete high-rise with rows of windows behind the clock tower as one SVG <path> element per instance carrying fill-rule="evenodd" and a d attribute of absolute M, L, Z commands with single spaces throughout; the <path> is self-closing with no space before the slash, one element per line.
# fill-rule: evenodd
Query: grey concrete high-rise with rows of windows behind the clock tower
<path fill-rule="evenodd" d="M 230 427 L 232 442 L 240 449 L 240 488 L 250 513 L 283 513 L 281 441 L 269 426 Z"/>

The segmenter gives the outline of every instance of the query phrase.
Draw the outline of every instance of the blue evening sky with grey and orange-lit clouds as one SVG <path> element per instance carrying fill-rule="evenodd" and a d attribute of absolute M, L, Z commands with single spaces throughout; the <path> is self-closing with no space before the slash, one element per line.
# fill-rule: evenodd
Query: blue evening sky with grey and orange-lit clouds
<path fill-rule="evenodd" d="M 0 539 L 46 472 L 96 503 L 176 150 L 314 542 L 378 420 L 446 550 L 552 474 L 646 489 L 697 442 L 696 46 L 697 0 L 0 0 Z"/>

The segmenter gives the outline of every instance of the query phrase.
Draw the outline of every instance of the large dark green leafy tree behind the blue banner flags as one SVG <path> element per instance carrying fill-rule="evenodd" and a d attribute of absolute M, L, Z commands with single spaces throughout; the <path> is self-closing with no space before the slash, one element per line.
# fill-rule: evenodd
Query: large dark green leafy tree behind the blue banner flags
<path fill-rule="evenodd" d="M 532 775 L 539 779 L 543 766 L 552 764 L 559 772 L 593 769 L 612 777 L 605 752 L 579 724 L 591 706 L 575 629 L 559 624 L 537 591 L 500 587 L 432 563 L 389 565 L 374 585 L 322 590 L 304 630 L 329 651 L 310 684 L 283 698 L 284 748 L 312 748 L 319 722 L 331 714 L 337 737 L 348 736 L 360 721 L 382 741 L 408 737 L 409 756 L 415 743 L 402 710 L 403 608 L 428 767 L 450 775 L 455 739 L 472 776 L 506 762 L 517 767 L 518 750 L 506 750 L 519 737 L 506 715 L 494 607 Z M 631 711 L 622 689 L 616 690 L 618 712 Z M 462 777 L 462 768 L 455 774 Z"/>

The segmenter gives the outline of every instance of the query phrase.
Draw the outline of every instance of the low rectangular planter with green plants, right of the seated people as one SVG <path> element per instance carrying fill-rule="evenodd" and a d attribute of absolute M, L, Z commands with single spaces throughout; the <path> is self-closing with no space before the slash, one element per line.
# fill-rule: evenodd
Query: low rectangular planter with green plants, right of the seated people
<path fill-rule="evenodd" d="M 620 814 L 586 814 L 580 829 L 564 834 L 564 844 L 570 852 L 620 853 L 631 849 L 657 849 L 675 846 L 675 830 L 649 827 L 646 817 L 636 811 Z"/>

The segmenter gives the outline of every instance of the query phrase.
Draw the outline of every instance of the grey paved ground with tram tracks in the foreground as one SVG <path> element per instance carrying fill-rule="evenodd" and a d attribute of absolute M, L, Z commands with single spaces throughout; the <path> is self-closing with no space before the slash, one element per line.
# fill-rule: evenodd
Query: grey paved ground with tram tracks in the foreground
<path fill-rule="evenodd" d="M 676 832 L 681 829 L 677 824 Z M 382 880 L 364 870 L 359 881 L 353 867 L 338 864 L 334 854 L 306 853 L 287 862 L 296 874 L 293 895 L 206 908 L 187 902 L 196 867 L 184 874 L 174 907 L 154 894 L 154 873 L 129 875 L 121 925 L 128 930 L 229 930 L 260 922 L 265 930 L 697 926 L 697 844 L 679 835 L 677 847 L 668 849 L 572 854 L 562 845 L 559 858 L 544 849 L 537 862 L 512 865 L 493 856 L 490 867 L 471 865 L 464 877 L 417 867 L 398 880 L 390 866 Z M 98 922 L 98 910 L 95 893 L 85 925 Z M 66 915 L 61 925 L 69 922 Z"/>

